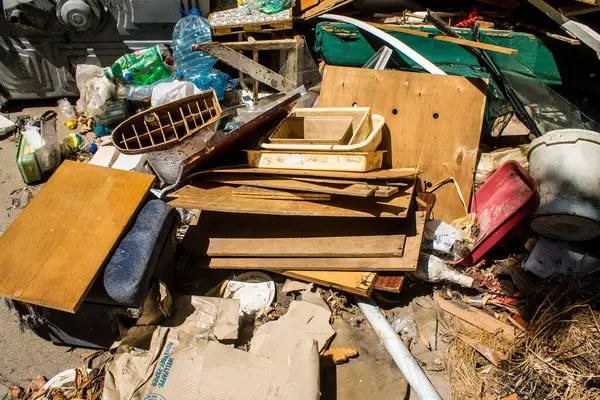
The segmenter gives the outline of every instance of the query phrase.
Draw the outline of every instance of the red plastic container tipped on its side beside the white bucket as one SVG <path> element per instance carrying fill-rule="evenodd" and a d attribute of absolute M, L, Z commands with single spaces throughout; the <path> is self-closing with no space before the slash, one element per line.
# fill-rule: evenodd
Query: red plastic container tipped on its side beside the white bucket
<path fill-rule="evenodd" d="M 477 214 L 477 244 L 468 257 L 457 264 L 469 266 L 479 261 L 496 243 L 540 203 L 535 181 L 515 161 L 504 163 L 479 188 L 471 202 Z"/>

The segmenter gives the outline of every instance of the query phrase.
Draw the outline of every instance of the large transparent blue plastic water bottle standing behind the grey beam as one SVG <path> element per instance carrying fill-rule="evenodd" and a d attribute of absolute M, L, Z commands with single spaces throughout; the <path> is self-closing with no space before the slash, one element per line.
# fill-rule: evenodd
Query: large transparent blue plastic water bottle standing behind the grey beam
<path fill-rule="evenodd" d="M 211 89 L 208 74 L 217 59 L 201 51 L 192 51 L 192 45 L 212 42 L 210 24 L 198 8 L 192 8 L 173 30 L 173 56 L 180 75 L 199 89 Z"/>

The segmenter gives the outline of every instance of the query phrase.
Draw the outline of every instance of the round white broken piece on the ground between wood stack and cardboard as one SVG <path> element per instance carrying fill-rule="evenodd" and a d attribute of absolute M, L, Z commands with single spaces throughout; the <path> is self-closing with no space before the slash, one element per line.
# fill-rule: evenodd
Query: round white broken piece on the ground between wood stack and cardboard
<path fill-rule="evenodd" d="M 240 315 L 260 315 L 275 299 L 275 282 L 264 272 L 245 272 L 229 280 L 223 297 L 240 301 Z"/>

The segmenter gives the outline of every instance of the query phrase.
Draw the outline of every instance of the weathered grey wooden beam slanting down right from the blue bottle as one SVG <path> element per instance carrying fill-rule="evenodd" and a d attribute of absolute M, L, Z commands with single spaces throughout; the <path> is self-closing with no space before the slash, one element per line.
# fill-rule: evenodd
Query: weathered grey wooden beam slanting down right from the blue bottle
<path fill-rule="evenodd" d="M 221 43 L 211 42 L 194 44 L 192 45 L 192 50 L 210 54 L 223 61 L 225 64 L 232 66 L 280 92 L 288 93 L 296 89 L 296 84 L 294 82 Z"/>

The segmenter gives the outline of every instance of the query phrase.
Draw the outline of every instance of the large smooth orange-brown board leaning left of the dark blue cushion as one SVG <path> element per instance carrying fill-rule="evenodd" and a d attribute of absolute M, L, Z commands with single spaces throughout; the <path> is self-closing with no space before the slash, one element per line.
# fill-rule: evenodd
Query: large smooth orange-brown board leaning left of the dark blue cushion
<path fill-rule="evenodd" d="M 0 296 L 77 311 L 153 181 L 63 162 L 0 237 Z"/>

